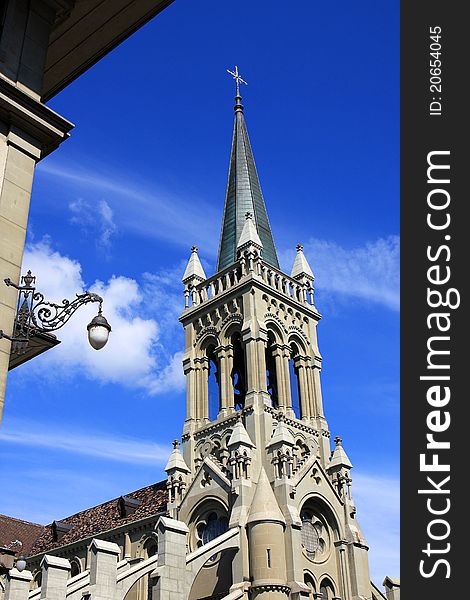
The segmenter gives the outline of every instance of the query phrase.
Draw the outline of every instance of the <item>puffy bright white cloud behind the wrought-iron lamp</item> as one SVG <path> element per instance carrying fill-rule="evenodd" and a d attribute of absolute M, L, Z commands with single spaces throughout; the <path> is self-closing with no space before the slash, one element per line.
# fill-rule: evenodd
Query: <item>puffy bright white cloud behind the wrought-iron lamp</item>
<path fill-rule="evenodd" d="M 81 265 L 51 248 L 46 241 L 28 245 L 24 265 L 37 276 L 38 290 L 46 300 L 60 303 L 85 290 Z M 154 276 L 158 280 L 158 276 Z M 162 335 L 159 322 L 152 316 L 157 306 L 146 305 L 145 286 L 127 277 L 113 276 L 109 281 L 96 281 L 89 290 L 103 297 L 103 314 L 112 327 L 108 344 L 99 351 L 87 341 L 86 326 L 97 313 L 96 304 L 81 307 L 57 332 L 62 344 L 31 362 L 28 371 L 40 369 L 53 377 L 80 373 L 101 382 L 143 388 L 149 394 L 180 390 L 184 386 L 180 354 L 175 354 L 168 335 Z M 155 285 L 155 283 L 153 283 Z M 160 280 L 160 285 L 164 283 Z M 160 290 L 158 318 L 166 326 L 182 299 L 165 305 L 165 292 Z M 151 303 L 154 303 L 154 297 Z M 168 301 L 168 298 L 167 298 Z M 152 310 L 150 310 L 152 309 Z M 177 319 L 175 319 L 178 325 Z M 45 369 L 54 367 L 53 369 Z"/>

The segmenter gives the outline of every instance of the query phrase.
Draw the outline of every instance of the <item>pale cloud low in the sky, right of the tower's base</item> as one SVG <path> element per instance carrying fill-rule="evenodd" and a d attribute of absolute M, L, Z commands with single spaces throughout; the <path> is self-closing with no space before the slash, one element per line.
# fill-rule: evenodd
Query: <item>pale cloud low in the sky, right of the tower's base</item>
<path fill-rule="evenodd" d="M 371 579 L 381 588 L 386 575 L 400 573 L 400 482 L 353 474 L 357 520 L 369 544 Z"/>

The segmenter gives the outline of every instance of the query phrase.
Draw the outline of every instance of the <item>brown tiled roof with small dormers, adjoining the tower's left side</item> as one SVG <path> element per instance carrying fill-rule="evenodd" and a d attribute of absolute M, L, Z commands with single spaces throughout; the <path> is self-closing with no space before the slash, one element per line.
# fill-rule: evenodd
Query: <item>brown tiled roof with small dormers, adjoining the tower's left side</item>
<path fill-rule="evenodd" d="M 126 523 L 132 523 L 165 512 L 168 502 L 166 483 L 165 479 L 126 494 L 125 498 L 127 499 L 140 501 L 140 504 L 137 505 L 136 503 L 135 511 L 127 514 L 127 516 L 122 516 L 121 498 L 123 496 L 121 496 L 61 519 L 61 524 L 71 525 L 71 527 L 59 540 L 54 536 L 54 525 L 46 525 L 32 545 L 28 553 L 29 556 L 49 552 L 54 548 L 91 538 L 103 531 L 109 531 Z"/>

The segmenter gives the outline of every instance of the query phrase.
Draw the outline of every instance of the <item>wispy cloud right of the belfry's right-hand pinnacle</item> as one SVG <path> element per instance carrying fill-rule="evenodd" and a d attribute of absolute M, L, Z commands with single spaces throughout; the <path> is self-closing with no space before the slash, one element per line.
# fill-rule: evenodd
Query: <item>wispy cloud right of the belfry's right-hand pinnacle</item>
<path fill-rule="evenodd" d="M 398 236 L 380 238 L 353 249 L 312 238 L 305 244 L 304 253 L 315 274 L 315 286 L 321 292 L 355 297 L 399 310 Z M 292 265 L 294 253 L 281 253 L 281 258 L 284 264 Z"/>

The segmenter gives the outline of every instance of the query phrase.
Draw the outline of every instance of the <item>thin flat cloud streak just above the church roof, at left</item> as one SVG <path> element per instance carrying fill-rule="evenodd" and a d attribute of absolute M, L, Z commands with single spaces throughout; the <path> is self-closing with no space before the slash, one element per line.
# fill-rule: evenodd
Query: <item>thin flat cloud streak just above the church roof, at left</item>
<path fill-rule="evenodd" d="M 0 431 L 0 441 L 29 448 L 47 448 L 135 465 L 164 465 L 171 449 L 161 444 L 127 437 L 110 437 L 100 432 L 78 433 L 73 430 L 50 434 L 50 423 L 10 421 Z"/>

